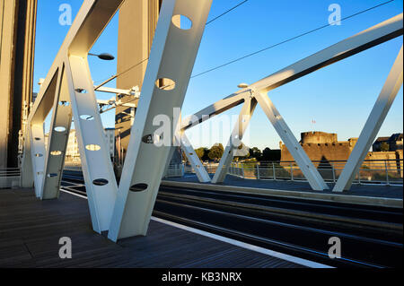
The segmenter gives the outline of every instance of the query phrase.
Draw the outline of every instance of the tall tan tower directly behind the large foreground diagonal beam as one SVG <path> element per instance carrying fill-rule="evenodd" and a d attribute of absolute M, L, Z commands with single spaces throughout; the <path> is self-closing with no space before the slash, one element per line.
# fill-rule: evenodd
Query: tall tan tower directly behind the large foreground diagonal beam
<path fill-rule="evenodd" d="M 161 6 L 162 0 L 125 1 L 119 8 L 117 72 L 121 75 L 117 79 L 117 88 L 142 88 L 148 63 L 145 59 L 149 57 L 152 48 Z M 128 26 L 133 28 L 127 29 Z M 123 98 L 122 101 L 125 103 L 130 100 Z M 136 102 L 137 100 L 133 101 Z M 115 112 L 115 136 L 119 137 L 119 154 L 125 158 L 133 121 L 131 110 L 118 107 Z M 123 161 L 123 158 L 120 160 Z"/>

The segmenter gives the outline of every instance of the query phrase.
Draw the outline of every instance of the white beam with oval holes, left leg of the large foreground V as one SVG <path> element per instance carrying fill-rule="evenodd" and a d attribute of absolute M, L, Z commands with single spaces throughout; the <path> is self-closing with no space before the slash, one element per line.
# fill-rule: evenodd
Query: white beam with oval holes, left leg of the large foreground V
<path fill-rule="evenodd" d="M 66 59 L 66 74 L 92 228 L 100 233 L 110 227 L 113 203 L 118 192 L 117 181 L 87 59 L 69 56 Z"/>

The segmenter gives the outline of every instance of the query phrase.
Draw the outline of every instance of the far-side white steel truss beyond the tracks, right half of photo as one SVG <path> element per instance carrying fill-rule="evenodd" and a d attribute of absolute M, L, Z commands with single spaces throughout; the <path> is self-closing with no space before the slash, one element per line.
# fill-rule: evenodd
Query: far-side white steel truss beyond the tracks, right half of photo
<path fill-rule="evenodd" d="M 224 111 L 230 108 L 240 105 L 246 100 L 248 100 L 251 94 L 251 97 L 258 101 L 259 106 L 264 110 L 269 121 L 275 127 L 277 134 L 281 137 L 287 149 L 294 157 L 294 160 L 296 161 L 299 168 L 302 170 L 304 177 L 307 178 L 309 184 L 312 186 L 312 189 L 313 190 L 328 189 L 329 187 L 324 182 L 324 179 L 321 178 L 321 174 L 314 167 L 312 161 L 309 159 L 307 154 L 303 151 L 302 146 L 297 141 L 294 134 L 292 134 L 292 131 L 285 123 L 285 119 L 279 114 L 277 108 L 274 106 L 273 102 L 269 99 L 267 93 L 268 91 L 272 91 L 277 87 L 284 85 L 287 82 L 292 82 L 300 77 L 303 77 L 306 74 L 311 74 L 312 72 L 319 70 L 324 66 L 331 65 L 348 56 L 356 55 L 357 53 L 362 52 L 365 49 L 372 48 L 387 40 L 399 37 L 400 35 L 402 35 L 402 32 L 403 32 L 403 14 L 400 13 L 399 15 L 385 22 L 377 24 L 348 39 L 344 39 L 338 42 L 337 44 L 329 48 L 325 48 L 320 52 L 313 54 L 312 56 L 308 56 L 293 65 L 289 65 L 284 69 L 278 71 L 277 73 L 271 74 L 268 77 L 260 80 L 259 82 L 251 84 L 249 87 L 243 89 L 242 91 L 233 93 L 224 100 L 217 101 L 215 104 L 207 108 L 204 108 L 197 114 L 185 119 L 182 123 L 182 128 L 183 130 L 187 130 L 192 126 L 196 126 L 202 121 L 205 121 L 203 120 L 203 117 L 212 117 L 220 113 L 223 113 Z M 396 65 L 400 64 L 396 62 Z M 401 67 L 402 67 L 402 59 L 401 59 Z M 400 67 L 393 67 L 393 71 L 395 72 L 393 71 L 391 72 L 393 73 L 393 75 L 391 75 L 392 79 L 389 81 L 390 86 L 384 88 L 384 90 L 386 91 L 384 91 L 385 94 L 383 95 L 383 97 L 385 98 L 386 96 L 390 95 L 391 101 L 387 103 L 384 102 L 382 99 L 379 99 L 378 103 L 376 103 L 377 107 L 375 106 L 375 109 L 378 110 L 374 110 L 371 117 L 369 118 L 369 121 L 372 121 L 373 124 L 368 123 L 364 127 L 363 132 L 364 134 L 368 135 L 370 133 L 373 134 L 373 136 L 371 137 L 368 136 L 369 142 L 374 140 L 374 136 L 376 136 L 380 126 L 382 125 L 382 121 L 384 117 L 387 115 L 388 109 L 391 106 L 393 97 L 395 97 L 397 92 L 400 90 L 400 86 L 402 85 L 402 79 L 400 82 L 400 73 L 398 72 L 399 69 Z M 393 91 L 391 91 L 391 89 L 393 89 Z M 393 96 L 394 92 L 395 94 Z M 383 114 L 378 115 L 378 113 L 380 113 L 382 110 Z M 250 114 L 250 116 L 251 115 L 252 114 Z M 240 119 L 241 118 L 239 118 L 239 122 Z M 374 120 L 377 122 L 377 124 L 376 122 L 374 122 Z M 238 135 L 242 135 L 242 133 Z M 232 134 L 232 137 L 234 137 L 234 132 Z M 347 169 L 343 174 L 344 176 L 341 176 L 342 178 L 340 178 L 338 186 L 334 188 L 334 191 L 340 191 L 341 184 L 342 185 L 345 184 L 343 188 L 346 189 L 349 188 L 350 183 L 348 183 L 348 181 L 352 182 L 352 178 L 355 178 L 357 172 L 357 169 L 353 169 L 352 167 L 349 167 L 349 165 L 351 164 L 354 164 L 355 166 L 361 165 L 362 161 L 364 160 L 364 155 L 369 150 L 370 147 L 369 142 L 365 146 L 361 147 L 360 149 L 361 151 L 356 151 L 359 153 L 364 152 L 361 153 L 361 156 L 358 156 L 356 152 L 353 152 L 353 154 L 351 155 L 352 158 L 351 161 L 347 163 Z M 358 148 L 356 148 L 357 150 L 359 150 L 359 146 L 360 145 L 358 145 Z M 233 146 L 231 139 L 226 146 L 226 150 L 224 151 L 224 157 L 220 161 L 219 168 L 216 170 L 215 173 L 215 177 L 212 179 L 213 183 L 224 182 L 227 170 L 230 167 L 230 163 L 232 161 L 231 159 L 233 152 L 230 151 L 233 150 L 234 147 L 236 146 Z"/>

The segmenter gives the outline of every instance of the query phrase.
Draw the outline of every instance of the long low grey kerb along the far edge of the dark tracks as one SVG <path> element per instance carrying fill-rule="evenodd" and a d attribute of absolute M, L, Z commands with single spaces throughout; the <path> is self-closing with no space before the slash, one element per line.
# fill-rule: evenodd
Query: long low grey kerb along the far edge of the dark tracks
<path fill-rule="evenodd" d="M 276 189 L 258 188 L 258 187 L 223 186 L 223 185 L 216 186 L 211 184 L 175 182 L 167 180 L 162 180 L 162 186 L 190 187 L 211 191 L 233 192 L 233 193 L 254 194 L 254 195 L 273 195 L 273 196 L 291 197 L 306 200 L 320 200 L 320 201 L 336 202 L 344 204 L 364 204 L 372 206 L 386 206 L 393 208 L 403 207 L 402 199 L 392 199 L 392 198 L 374 197 L 374 196 L 319 194 L 312 192 L 286 191 L 286 190 L 276 190 Z"/>

